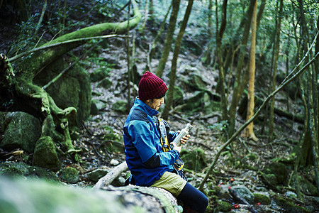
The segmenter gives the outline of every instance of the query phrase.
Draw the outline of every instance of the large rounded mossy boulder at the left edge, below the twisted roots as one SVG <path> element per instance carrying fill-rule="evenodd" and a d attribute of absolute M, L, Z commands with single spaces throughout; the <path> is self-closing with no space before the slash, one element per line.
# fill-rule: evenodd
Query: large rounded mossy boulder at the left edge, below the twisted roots
<path fill-rule="evenodd" d="M 23 111 L 10 112 L 5 116 L 4 139 L 0 146 L 9 150 L 22 148 L 23 151 L 33 153 L 40 133 L 41 124 L 35 116 Z"/>

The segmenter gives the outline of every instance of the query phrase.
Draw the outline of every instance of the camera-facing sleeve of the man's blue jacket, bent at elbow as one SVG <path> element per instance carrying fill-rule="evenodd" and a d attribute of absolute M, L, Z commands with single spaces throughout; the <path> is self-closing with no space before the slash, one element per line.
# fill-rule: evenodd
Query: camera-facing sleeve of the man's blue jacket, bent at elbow
<path fill-rule="evenodd" d="M 138 150 L 143 165 L 147 168 L 156 168 L 162 165 L 172 165 L 179 157 L 179 151 L 157 152 L 155 143 L 155 132 L 145 121 L 131 121 L 128 126 L 128 133 L 132 137 L 132 142 Z"/>

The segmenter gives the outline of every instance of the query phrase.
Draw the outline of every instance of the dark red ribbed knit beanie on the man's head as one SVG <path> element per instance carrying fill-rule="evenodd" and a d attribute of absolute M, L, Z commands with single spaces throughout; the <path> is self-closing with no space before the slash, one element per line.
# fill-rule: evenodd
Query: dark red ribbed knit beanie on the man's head
<path fill-rule="evenodd" d="M 138 97 L 141 101 L 163 97 L 165 92 L 167 86 L 159 77 L 148 71 L 142 75 L 138 84 Z"/>

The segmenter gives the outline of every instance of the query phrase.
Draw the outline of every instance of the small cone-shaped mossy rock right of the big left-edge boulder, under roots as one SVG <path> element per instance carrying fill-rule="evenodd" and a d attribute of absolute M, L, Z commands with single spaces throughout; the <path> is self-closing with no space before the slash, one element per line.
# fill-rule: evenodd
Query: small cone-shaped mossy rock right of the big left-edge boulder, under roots
<path fill-rule="evenodd" d="M 51 170 L 59 170 L 61 163 L 55 151 L 55 145 L 49 136 L 41 137 L 35 145 L 33 165 Z"/>

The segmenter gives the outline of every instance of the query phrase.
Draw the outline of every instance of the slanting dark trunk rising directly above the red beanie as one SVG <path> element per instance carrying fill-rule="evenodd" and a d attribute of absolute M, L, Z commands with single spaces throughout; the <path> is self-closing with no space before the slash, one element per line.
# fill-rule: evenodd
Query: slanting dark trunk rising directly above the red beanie
<path fill-rule="evenodd" d="M 159 60 L 159 64 L 157 66 L 156 75 L 158 77 L 162 77 L 164 68 L 167 62 L 167 58 L 169 56 L 169 51 L 171 50 L 171 45 L 173 41 L 173 35 L 175 31 L 176 21 L 177 21 L 177 14 L 179 13 L 179 3 L 180 0 L 172 0 L 173 1 L 173 9 L 171 13 L 171 17 L 169 18 L 169 26 L 167 29 L 167 35 L 164 43 L 164 48 L 162 51 L 162 57 Z"/>

